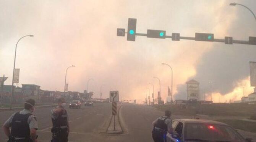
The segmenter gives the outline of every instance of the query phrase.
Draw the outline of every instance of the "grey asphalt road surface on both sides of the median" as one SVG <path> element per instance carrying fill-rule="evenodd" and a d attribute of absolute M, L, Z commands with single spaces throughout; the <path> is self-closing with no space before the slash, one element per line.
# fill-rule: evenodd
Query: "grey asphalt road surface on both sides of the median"
<path fill-rule="evenodd" d="M 111 105 L 109 103 L 94 104 L 93 107 L 82 106 L 81 109 L 66 108 L 70 120 L 69 142 L 153 142 L 151 137 L 152 121 L 164 115 L 150 106 L 138 104 L 123 104 L 120 114 L 124 121 L 124 133 L 120 135 L 100 134 L 104 122 L 109 118 Z M 39 141 L 49 142 L 51 139 L 50 119 L 51 108 L 36 109 L 35 115 L 39 123 Z M 0 125 L 15 111 L 0 112 Z M 178 117 L 172 116 L 172 119 Z M 6 142 L 2 129 L 0 142 Z"/>

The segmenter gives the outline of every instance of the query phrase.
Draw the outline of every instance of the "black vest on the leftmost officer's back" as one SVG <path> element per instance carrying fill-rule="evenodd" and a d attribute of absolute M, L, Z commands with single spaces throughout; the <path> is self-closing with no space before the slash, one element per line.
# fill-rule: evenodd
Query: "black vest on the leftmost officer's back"
<path fill-rule="evenodd" d="M 11 136 L 30 138 L 28 117 L 32 114 L 19 114 L 17 112 L 11 120 Z"/>

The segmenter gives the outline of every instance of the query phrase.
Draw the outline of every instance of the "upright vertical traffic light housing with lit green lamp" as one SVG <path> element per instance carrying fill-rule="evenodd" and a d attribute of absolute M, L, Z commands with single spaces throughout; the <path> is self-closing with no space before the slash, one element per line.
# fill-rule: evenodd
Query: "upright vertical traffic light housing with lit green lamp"
<path fill-rule="evenodd" d="M 137 22 L 137 19 L 134 19 L 134 18 L 128 19 L 128 31 L 127 31 L 127 40 L 128 41 L 135 41 L 136 22 Z"/>

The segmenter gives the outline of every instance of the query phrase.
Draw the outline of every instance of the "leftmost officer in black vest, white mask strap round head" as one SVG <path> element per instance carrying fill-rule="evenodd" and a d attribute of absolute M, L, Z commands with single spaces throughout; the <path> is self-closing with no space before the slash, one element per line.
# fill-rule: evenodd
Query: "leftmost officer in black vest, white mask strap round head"
<path fill-rule="evenodd" d="M 37 142 L 37 120 L 32 113 L 35 111 L 34 99 L 28 99 L 24 110 L 17 112 L 3 124 L 3 131 L 9 137 L 8 142 Z M 10 131 L 11 128 L 11 131 Z"/>

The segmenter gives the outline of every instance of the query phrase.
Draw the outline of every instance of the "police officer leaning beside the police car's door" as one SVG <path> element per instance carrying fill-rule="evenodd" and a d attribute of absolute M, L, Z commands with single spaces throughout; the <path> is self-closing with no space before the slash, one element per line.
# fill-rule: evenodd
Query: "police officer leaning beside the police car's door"
<path fill-rule="evenodd" d="M 154 126 L 152 130 L 154 142 L 165 142 L 167 131 L 169 133 L 172 132 L 171 114 L 169 110 L 165 110 L 165 116 L 157 118 L 157 120 L 152 123 Z"/>

